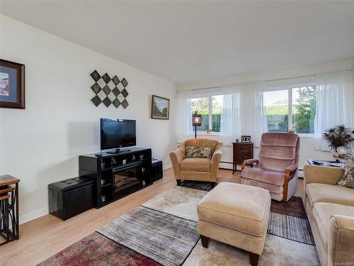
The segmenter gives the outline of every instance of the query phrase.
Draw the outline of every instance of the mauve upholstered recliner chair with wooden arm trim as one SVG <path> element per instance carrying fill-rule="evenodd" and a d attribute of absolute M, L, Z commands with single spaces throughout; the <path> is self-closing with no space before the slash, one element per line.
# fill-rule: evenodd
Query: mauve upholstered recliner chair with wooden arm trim
<path fill-rule="evenodd" d="M 296 192 L 299 148 L 295 133 L 263 133 L 259 160 L 244 161 L 241 183 L 268 189 L 276 201 L 288 201 Z"/>

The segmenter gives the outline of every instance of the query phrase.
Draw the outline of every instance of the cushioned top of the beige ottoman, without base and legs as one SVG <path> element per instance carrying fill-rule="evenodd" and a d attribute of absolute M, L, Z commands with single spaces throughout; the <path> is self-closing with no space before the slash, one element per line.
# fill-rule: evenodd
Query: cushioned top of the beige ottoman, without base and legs
<path fill-rule="evenodd" d="M 262 236 L 268 227 L 270 195 L 259 187 L 222 182 L 198 203 L 197 211 L 202 221 Z"/>

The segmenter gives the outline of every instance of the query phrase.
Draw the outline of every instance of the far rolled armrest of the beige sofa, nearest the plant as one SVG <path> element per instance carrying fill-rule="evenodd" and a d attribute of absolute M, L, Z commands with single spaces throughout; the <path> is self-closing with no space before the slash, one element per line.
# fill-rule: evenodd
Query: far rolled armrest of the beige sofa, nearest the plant
<path fill-rule="evenodd" d="M 304 184 L 334 184 L 343 176 L 344 170 L 338 167 L 317 165 L 304 166 Z"/>

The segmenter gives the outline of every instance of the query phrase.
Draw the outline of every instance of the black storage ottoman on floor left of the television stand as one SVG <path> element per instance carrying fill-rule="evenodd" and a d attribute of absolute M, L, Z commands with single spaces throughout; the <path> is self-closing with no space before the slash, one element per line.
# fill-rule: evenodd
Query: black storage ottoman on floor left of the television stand
<path fill-rule="evenodd" d="M 75 177 L 48 185 L 49 213 L 63 221 L 93 206 L 93 180 Z"/>

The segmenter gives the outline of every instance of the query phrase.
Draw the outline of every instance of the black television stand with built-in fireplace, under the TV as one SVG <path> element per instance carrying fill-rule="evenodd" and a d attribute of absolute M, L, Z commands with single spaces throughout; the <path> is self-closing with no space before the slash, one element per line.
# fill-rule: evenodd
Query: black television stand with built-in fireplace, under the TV
<path fill-rule="evenodd" d="M 143 189 L 157 180 L 152 173 L 150 148 L 130 148 L 119 153 L 101 154 L 100 157 L 95 153 L 79 156 L 80 177 L 88 177 L 95 182 L 93 206 L 96 208 Z"/>

